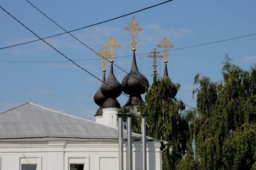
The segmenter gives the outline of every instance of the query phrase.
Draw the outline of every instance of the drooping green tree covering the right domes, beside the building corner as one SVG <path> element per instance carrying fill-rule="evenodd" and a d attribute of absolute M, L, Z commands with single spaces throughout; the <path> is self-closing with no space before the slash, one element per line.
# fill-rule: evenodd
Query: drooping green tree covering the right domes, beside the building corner
<path fill-rule="evenodd" d="M 185 153 L 189 136 L 188 122 L 181 113 L 184 104 L 175 99 L 179 88 L 180 85 L 170 79 L 157 79 L 154 75 L 154 82 L 147 91 L 147 107 L 138 107 L 138 111 L 147 113 L 147 135 L 169 142 L 170 150 L 163 154 L 163 169 L 175 169 Z"/>

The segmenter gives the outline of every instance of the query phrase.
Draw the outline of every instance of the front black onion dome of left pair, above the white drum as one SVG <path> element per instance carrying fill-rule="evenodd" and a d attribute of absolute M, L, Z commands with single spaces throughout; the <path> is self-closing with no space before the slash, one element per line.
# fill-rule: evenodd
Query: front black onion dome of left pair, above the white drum
<path fill-rule="evenodd" d="M 102 83 L 100 87 L 100 91 L 104 97 L 106 97 L 106 101 L 102 105 L 102 107 L 116 107 L 120 108 L 120 104 L 116 100 L 122 93 L 122 86 L 116 80 L 116 77 L 113 73 L 113 63 L 110 66 L 110 72 L 108 78 L 105 81 L 106 83 Z"/>

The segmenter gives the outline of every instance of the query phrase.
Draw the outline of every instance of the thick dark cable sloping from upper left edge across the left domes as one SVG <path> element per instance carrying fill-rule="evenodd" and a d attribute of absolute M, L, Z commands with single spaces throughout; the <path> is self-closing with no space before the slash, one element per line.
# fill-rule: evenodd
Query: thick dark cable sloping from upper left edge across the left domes
<path fill-rule="evenodd" d="M 19 24 L 21 24 L 23 27 L 25 27 L 26 29 L 28 29 L 28 31 L 30 31 L 31 33 L 33 33 L 33 35 L 35 35 L 37 38 L 40 38 L 40 36 L 36 35 L 35 32 L 33 32 L 31 29 L 29 29 L 27 26 L 25 26 L 24 24 L 22 24 L 22 22 L 20 22 L 20 20 L 16 19 L 16 17 L 14 17 L 11 13 L 7 12 L 2 6 L 0 6 L 0 8 L 6 12 L 8 15 L 10 15 L 13 19 L 15 19 L 17 22 L 19 22 Z M 49 45 L 52 49 L 56 50 L 56 52 L 58 52 L 59 54 L 61 54 L 61 56 L 63 56 L 64 58 L 68 59 L 70 62 L 72 62 L 74 65 L 76 65 L 78 68 L 80 68 L 81 70 L 83 70 L 84 72 L 87 72 L 88 74 L 92 75 L 92 77 L 94 77 L 95 79 L 97 79 L 98 81 L 106 84 L 107 86 L 113 88 L 112 86 L 110 86 L 109 84 L 107 84 L 106 82 L 100 80 L 97 76 L 93 75 L 93 73 L 89 72 L 88 70 L 86 70 L 85 68 L 83 68 L 82 66 L 78 65 L 76 62 L 72 61 L 72 59 L 68 58 L 65 54 L 63 54 L 62 52 L 60 52 L 60 50 L 56 49 L 55 47 L 53 47 L 50 43 L 46 42 L 45 40 L 43 40 L 42 38 L 40 38 L 40 40 L 42 40 L 44 43 L 46 43 L 47 45 Z M 128 95 L 126 95 L 125 93 L 122 92 L 122 95 L 124 95 L 125 97 L 128 97 Z M 132 99 L 134 100 L 134 99 Z M 136 100 L 134 100 L 136 101 Z M 138 103 L 140 103 L 139 101 L 136 101 Z M 141 104 L 141 103 L 140 103 Z M 144 105 L 145 107 L 147 107 L 147 105 L 145 104 L 141 104 Z"/>

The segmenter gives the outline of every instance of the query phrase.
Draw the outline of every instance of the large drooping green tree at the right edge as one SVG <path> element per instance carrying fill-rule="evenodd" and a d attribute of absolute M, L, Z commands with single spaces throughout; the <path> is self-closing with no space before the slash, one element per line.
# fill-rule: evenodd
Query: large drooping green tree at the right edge
<path fill-rule="evenodd" d="M 256 67 L 244 71 L 227 56 L 222 75 L 220 82 L 195 77 L 198 110 L 187 116 L 195 153 L 179 167 L 256 169 Z"/>

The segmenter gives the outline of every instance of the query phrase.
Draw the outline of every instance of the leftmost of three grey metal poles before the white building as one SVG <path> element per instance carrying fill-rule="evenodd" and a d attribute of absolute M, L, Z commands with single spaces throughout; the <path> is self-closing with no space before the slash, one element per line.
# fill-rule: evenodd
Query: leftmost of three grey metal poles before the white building
<path fill-rule="evenodd" d="M 116 114 L 118 116 L 118 151 L 119 151 L 119 170 L 124 170 L 124 129 L 123 129 L 123 114 L 118 113 Z"/>

